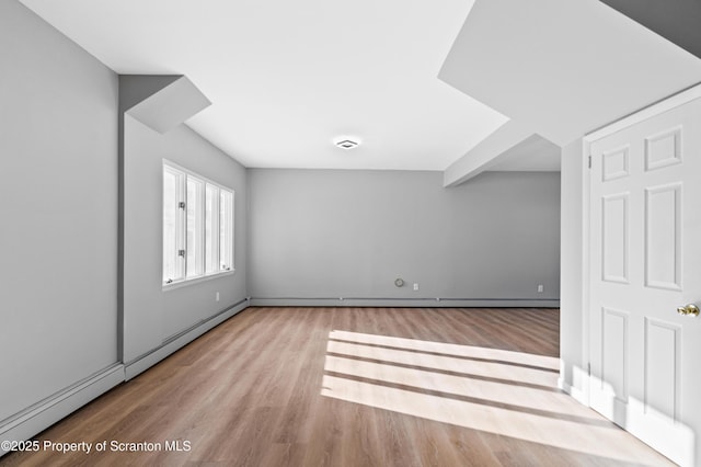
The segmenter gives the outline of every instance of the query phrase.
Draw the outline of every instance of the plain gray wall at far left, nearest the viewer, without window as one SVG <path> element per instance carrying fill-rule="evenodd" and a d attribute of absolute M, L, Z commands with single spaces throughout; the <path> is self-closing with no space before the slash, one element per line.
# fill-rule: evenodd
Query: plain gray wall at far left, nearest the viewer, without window
<path fill-rule="evenodd" d="M 117 76 L 0 1 L 0 420 L 117 361 Z"/>

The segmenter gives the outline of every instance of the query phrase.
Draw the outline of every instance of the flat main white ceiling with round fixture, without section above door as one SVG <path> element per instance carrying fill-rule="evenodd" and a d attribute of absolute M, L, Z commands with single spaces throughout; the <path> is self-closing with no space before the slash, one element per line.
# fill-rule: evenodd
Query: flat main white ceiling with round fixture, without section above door
<path fill-rule="evenodd" d="M 472 1 L 22 2 L 118 73 L 187 76 L 187 125 L 246 167 L 444 170 L 507 121 L 437 79 Z"/>

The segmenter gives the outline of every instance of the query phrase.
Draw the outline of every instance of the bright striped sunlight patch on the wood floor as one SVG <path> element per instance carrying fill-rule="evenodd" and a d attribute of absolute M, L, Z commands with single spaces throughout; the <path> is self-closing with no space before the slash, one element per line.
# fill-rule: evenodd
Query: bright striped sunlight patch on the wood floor
<path fill-rule="evenodd" d="M 330 339 L 322 396 L 621 462 L 659 462 L 556 389 L 558 358 L 348 331 Z"/>

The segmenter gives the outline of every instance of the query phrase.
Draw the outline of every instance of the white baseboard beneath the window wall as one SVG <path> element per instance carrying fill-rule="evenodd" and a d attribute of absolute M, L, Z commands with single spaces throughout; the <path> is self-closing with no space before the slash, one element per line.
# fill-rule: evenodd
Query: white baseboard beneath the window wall
<path fill-rule="evenodd" d="M 166 356 L 174 353 L 175 351 L 182 349 L 186 344 L 191 343 L 192 341 L 199 338 L 205 332 L 222 323 L 223 321 L 231 318 L 232 316 L 239 314 L 240 311 L 243 311 L 249 306 L 250 306 L 250 300 L 245 298 L 239 301 L 238 304 L 235 304 L 234 306 L 232 306 L 231 308 L 228 308 L 205 321 L 198 322 L 194 327 L 186 329 L 180 334 L 176 334 L 168 339 L 166 341 L 163 342 L 161 346 L 153 349 L 149 353 L 138 356 L 135 360 L 125 363 L 124 365 L 125 380 L 128 381 L 129 379 L 134 378 L 140 373 L 143 373 L 151 366 L 159 363 L 161 360 L 165 358 Z"/>

